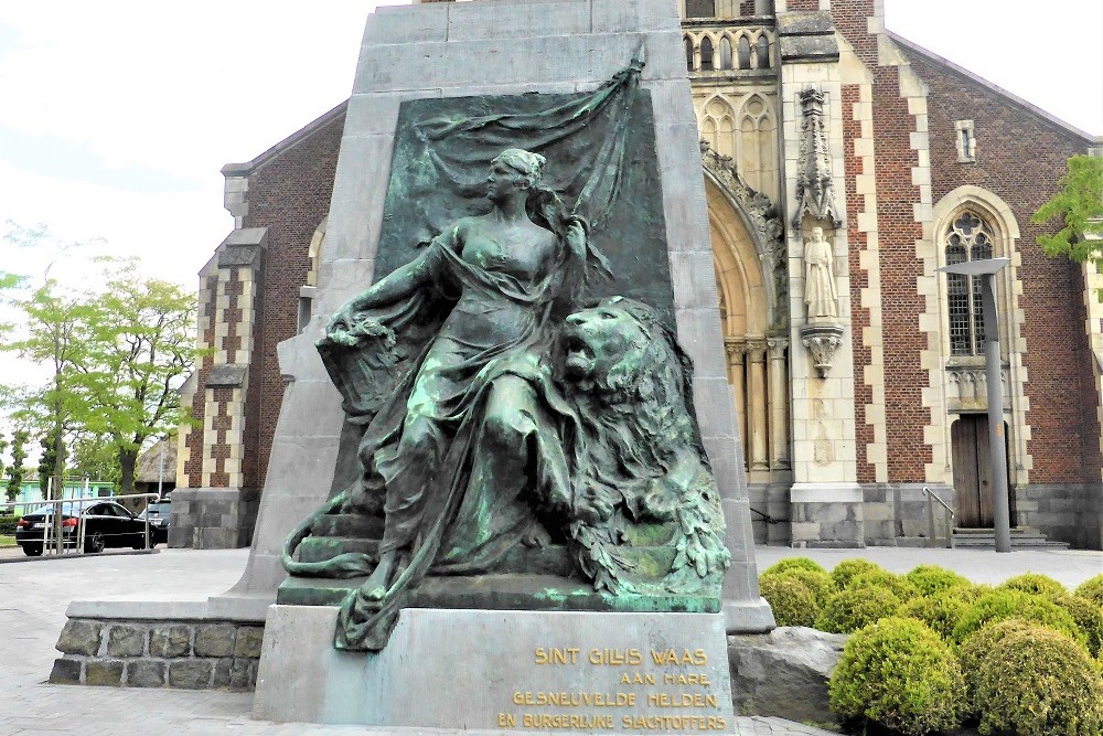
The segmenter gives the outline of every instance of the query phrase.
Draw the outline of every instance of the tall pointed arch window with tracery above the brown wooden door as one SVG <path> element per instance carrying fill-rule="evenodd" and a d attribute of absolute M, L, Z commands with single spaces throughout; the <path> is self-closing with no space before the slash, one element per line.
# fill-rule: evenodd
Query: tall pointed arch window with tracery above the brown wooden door
<path fill-rule="evenodd" d="M 963 212 L 953 221 L 945 236 L 946 265 L 992 258 L 992 226 L 975 212 Z M 947 274 L 946 299 L 950 354 L 984 355 L 979 278 Z"/>

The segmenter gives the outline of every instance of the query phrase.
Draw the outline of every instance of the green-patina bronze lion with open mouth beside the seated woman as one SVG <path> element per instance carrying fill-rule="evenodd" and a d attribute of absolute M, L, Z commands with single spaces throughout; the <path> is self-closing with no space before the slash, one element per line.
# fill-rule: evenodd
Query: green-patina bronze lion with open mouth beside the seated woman
<path fill-rule="evenodd" d="M 718 595 L 724 516 L 673 331 L 651 307 L 611 297 L 566 319 L 559 355 L 578 418 L 570 529 L 583 572 L 612 593 Z M 664 562 L 656 547 L 677 554 Z"/>

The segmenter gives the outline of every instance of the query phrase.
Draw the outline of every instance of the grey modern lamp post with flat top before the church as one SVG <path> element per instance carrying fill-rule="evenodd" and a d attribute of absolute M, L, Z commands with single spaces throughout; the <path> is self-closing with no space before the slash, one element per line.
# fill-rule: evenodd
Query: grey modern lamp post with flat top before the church
<path fill-rule="evenodd" d="M 1004 444 L 1004 395 L 999 377 L 999 323 L 996 318 L 996 273 L 1010 258 L 983 258 L 936 270 L 977 277 L 984 316 L 984 376 L 988 384 L 988 457 L 992 461 L 993 516 L 996 552 L 1011 551 L 1011 512 L 1007 504 L 1007 454 Z"/>

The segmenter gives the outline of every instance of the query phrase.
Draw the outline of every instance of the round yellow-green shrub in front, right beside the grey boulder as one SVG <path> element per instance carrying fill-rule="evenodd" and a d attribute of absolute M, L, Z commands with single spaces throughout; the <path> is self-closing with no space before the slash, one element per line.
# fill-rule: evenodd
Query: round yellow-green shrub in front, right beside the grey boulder
<path fill-rule="evenodd" d="M 961 668 L 923 623 L 886 618 L 855 633 L 832 672 L 832 710 L 921 736 L 956 728 L 964 712 Z"/>

